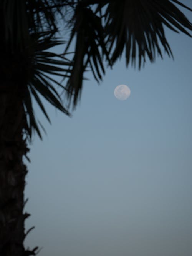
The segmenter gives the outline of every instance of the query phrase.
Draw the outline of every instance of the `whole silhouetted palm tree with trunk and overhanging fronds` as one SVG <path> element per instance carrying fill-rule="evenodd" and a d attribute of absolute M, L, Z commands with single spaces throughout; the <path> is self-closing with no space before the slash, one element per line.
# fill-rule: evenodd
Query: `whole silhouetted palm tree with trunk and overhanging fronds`
<path fill-rule="evenodd" d="M 80 98 L 83 74 L 90 69 L 99 81 L 105 73 L 104 59 L 113 66 L 124 48 L 126 65 L 139 69 L 161 47 L 172 57 L 163 25 L 190 36 L 192 24 L 174 3 L 177 0 L 2 0 L 0 2 L 0 255 L 35 255 L 23 240 L 26 166 L 23 156 L 34 132 L 41 137 L 43 126 L 36 120 L 32 100 L 37 101 L 50 121 L 42 96 L 70 115 L 56 86 L 66 93 L 66 103 L 75 107 Z M 65 15 L 71 18 L 66 21 Z M 58 38 L 62 18 L 70 37 L 60 55 L 50 48 L 63 44 Z M 72 40 L 76 45 L 71 60 L 66 58 Z M 66 78 L 63 86 L 51 75 Z M 27 156 L 26 156 L 27 157 Z"/>

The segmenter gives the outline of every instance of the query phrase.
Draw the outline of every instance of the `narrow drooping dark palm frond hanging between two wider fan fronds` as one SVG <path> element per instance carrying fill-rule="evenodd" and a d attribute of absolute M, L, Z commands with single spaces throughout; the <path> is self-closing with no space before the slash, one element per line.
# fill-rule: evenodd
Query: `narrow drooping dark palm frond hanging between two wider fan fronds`
<path fill-rule="evenodd" d="M 103 56 L 105 55 L 108 62 L 110 61 L 106 44 L 104 43 L 104 30 L 101 19 L 90 8 L 78 4 L 73 21 L 73 28 L 65 52 L 67 52 L 75 37 L 76 47 L 72 73 L 66 87 L 68 88 L 68 100 L 70 101 L 73 96 L 73 105 L 76 106 L 82 88 L 83 72 L 86 67 L 89 66 L 91 68 L 94 78 L 99 81 L 102 79 L 101 73 L 105 73 Z"/>

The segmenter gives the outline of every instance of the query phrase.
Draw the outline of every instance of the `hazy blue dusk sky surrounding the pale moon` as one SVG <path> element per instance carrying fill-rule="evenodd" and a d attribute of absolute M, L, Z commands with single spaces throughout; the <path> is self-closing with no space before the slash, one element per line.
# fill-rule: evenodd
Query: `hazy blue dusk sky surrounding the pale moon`
<path fill-rule="evenodd" d="M 34 105 L 47 135 L 25 161 L 25 245 L 38 255 L 192 255 L 192 39 L 166 36 L 174 61 L 138 71 L 123 56 L 99 85 L 87 73 L 71 118 L 45 102 L 50 125 Z"/>

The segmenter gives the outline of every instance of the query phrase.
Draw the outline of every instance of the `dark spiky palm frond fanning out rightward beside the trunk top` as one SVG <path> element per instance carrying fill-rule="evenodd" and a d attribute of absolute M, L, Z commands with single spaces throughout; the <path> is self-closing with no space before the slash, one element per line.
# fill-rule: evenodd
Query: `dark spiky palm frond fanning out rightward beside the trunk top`
<path fill-rule="evenodd" d="M 64 42 L 61 41 L 60 38 L 52 37 L 50 32 L 35 33 L 31 35 L 31 37 L 33 37 L 33 45 L 31 45 L 33 53 L 31 55 L 31 67 L 29 68 L 26 77 L 27 88 L 23 98 L 23 103 L 28 116 L 29 135 L 31 136 L 31 132 L 34 129 L 41 138 L 41 133 L 33 113 L 31 95 L 34 96 L 36 102 L 49 122 L 50 119 L 39 95 L 43 96 L 51 103 L 51 105 L 55 106 L 66 115 L 70 115 L 68 110 L 63 107 L 60 95 L 54 85 L 58 85 L 63 89 L 65 89 L 65 87 L 53 79 L 51 75 L 62 77 L 65 75 L 66 77 L 69 77 L 70 71 L 68 70 L 68 66 L 71 65 L 71 62 L 61 55 L 47 51 L 51 47 L 63 44 Z M 66 68 L 64 66 L 66 66 Z"/>

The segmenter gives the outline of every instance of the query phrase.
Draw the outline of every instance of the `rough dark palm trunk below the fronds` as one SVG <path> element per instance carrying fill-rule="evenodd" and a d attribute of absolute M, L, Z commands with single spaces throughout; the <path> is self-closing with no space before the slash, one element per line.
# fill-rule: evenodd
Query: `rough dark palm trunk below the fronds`
<path fill-rule="evenodd" d="M 29 216 L 23 213 L 26 116 L 19 93 L 5 89 L 8 87 L 0 86 L 0 255 L 35 255 L 23 246 L 24 220 Z"/>

